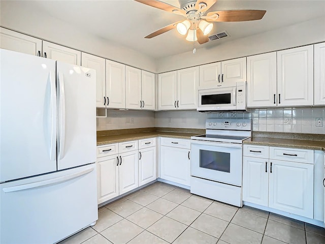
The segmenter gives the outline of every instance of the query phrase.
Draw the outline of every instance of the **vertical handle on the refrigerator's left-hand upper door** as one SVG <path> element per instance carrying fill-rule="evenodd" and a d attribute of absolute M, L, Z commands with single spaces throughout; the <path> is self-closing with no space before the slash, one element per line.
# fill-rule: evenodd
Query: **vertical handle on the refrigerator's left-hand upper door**
<path fill-rule="evenodd" d="M 50 160 L 55 160 L 56 156 L 56 93 L 55 80 L 51 79 L 51 72 L 49 73 L 50 89 L 51 89 L 51 149 Z"/>

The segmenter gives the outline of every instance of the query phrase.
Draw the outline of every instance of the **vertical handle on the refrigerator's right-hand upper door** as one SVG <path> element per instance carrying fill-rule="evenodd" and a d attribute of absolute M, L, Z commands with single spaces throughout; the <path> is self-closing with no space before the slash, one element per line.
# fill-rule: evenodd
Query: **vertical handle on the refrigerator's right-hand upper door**
<path fill-rule="evenodd" d="M 66 97 L 64 96 L 64 80 L 63 74 L 58 74 L 59 90 L 60 90 L 60 135 L 59 135 L 59 159 L 64 157 L 64 141 L 66 137 Z"/>

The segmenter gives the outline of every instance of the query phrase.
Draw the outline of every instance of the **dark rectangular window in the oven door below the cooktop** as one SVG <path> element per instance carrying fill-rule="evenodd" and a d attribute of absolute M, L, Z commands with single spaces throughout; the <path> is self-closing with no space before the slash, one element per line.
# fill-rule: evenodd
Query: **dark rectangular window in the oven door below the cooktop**
<path fill-rule="evenodd" d="M 230 173 L 230 153 L 200 150 L 200 167 Z"/>

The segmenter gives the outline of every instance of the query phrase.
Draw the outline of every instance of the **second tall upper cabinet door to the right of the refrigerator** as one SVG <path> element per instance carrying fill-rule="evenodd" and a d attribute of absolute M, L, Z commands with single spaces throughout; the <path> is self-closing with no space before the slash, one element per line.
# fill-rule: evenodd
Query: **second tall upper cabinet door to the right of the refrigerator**
<path fill-rule="evenodd" d="M 106 59 L 107 108 L 125 108 L 125 65 Z"/>

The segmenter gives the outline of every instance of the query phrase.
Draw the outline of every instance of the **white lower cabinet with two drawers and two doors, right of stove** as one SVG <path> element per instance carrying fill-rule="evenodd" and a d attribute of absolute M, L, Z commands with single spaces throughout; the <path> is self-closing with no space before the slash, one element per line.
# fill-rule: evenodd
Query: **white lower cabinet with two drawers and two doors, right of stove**
<path fill-rule="evenodd" d="M 263 152 L 268 146 L 254 146 Z M 243 201 L 313 219 L 313 150 L 270 147 L 270 156 L 243 148 Z M 259 158 L 265 157 L 265 158 Z M 285 160 L 275 158 L 283 157 Z M 306 163 L 295 162 L 305 161 Z"/>

